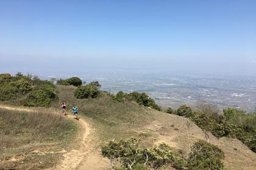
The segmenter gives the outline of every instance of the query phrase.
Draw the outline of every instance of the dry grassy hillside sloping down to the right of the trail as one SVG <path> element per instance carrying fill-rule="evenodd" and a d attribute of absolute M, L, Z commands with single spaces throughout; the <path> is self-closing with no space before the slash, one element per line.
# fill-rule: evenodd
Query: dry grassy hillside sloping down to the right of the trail
<path fill-rule="evenodd" d="M 165 142 L 186 155 L 191 144 L 206 140 L 202 129 L 188 118 L 138 106 L 135 102 L 115 103 L 105 93 L 95 99 L 76 99 L 73 97 L 75 89 L 58 86 L 59 98 L 65 100 L 68 107 L 76 104 L 80 108 L 79 114 L 94 124 L 102 143 L 113 138 L 135 137 L 146 146 Z M 226 169 L 255 169 L 256 154 L 241 141 L 226 137 L 218 139 L 211 134 L 209 141 L 224 151 Z"/>

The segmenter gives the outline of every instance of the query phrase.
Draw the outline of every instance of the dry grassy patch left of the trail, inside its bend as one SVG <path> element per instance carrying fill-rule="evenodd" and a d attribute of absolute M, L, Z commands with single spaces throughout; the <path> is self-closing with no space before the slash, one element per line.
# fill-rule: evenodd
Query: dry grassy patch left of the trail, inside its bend
<path fill-rule="evenodd" d="M 54 165 L 75 138 L 77 127 L 53 109 L 0 108 L 0 169 L 43 169 Z"/>

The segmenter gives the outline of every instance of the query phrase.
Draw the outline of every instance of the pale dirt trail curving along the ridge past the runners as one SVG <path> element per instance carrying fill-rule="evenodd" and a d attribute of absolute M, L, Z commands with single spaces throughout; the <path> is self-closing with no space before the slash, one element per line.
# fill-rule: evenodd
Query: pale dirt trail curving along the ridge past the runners
<path fill-rule="evenodd" d="M 28 109 L 24 107 L 10 107 L 0 105 L 0 108 L 7 110 L 20 110 L 25 112 L 37 112 L 37 109 Z M 73 120 L 73 117 L 68 115 L 69 119 Z M 93 127 L 85 121 L 84 117 L 81 117 L 76 124 L 79 125 L 79 132 L 77 134 L 76 140 L 71 143 L 73 148 L 69 152 L 65 152 L 60 160 L 59 164 L 52 168 L 45 170 L 104 170 L 110 169 L 110 165 L 106 158 L 101 155 L 101 150 L 99 148 L 98 139 L 93 130 Z"/>

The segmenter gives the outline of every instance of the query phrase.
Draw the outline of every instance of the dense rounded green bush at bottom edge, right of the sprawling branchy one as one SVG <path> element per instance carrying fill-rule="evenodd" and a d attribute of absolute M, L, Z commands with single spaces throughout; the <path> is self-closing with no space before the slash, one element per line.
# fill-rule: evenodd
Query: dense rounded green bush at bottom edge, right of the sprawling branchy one
<path fill-rule="evenodd" d="M 192 146 L 187 166 L 191 170 L 221 170 L 224 169 L 223 159 L 224 152 L 221 149 L 201 140 Z"/>

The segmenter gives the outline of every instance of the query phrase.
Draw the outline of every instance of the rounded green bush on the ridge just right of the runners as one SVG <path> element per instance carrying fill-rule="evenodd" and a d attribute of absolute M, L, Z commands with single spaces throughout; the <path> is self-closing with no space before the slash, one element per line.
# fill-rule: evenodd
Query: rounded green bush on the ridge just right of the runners
<path fill-rule="evenodd" d="M 93 81 L 85 86 L 79 86 L 74 91 L 74 97 L 76 98 L 96 98 L 100 94 L 99 88 L 101 84 L 98 81 Z"/>

